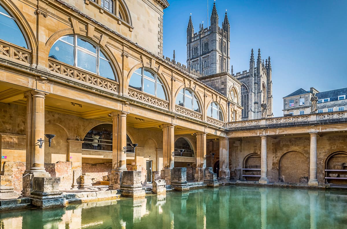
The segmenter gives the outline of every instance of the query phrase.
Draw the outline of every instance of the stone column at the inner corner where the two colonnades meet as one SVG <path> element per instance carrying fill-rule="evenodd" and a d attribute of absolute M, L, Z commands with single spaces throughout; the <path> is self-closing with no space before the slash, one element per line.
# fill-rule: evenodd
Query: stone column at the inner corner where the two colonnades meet
<path fill-rule="evenodd" d="M 224 181 L 230 180 L 229 170 L 229 138 L 219 138 L 220 177 Z"/>

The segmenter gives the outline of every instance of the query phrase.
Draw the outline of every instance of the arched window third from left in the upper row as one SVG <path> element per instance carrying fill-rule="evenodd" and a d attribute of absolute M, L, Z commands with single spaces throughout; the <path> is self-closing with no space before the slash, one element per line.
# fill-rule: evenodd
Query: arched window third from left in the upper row
<path fill-rule="evenodd" d="M 139 68 L 133 73 L 129 81 L 129 87 L 167 100 L 164 85 L 158 75 L 146 68 Z"/>

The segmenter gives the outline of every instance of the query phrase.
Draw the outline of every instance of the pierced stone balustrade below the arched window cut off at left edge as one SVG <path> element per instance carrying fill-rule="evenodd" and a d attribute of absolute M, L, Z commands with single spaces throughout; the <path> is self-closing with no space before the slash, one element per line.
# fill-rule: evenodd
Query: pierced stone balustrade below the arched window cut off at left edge
<path fill-rule="evenodd" d="M 31 54 L 31 50 L 0 40 L 0 55 L 2 56 L 31 63 Z"/>

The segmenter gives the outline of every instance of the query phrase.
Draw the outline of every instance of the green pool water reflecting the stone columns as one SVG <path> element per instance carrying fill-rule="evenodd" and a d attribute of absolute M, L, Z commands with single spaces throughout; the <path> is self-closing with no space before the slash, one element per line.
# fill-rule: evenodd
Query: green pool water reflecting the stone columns
<path fill-rule="evenodd" d="M 347 228 L 347 192 L 234 187 L 0 213 L 0 228 Z"/>

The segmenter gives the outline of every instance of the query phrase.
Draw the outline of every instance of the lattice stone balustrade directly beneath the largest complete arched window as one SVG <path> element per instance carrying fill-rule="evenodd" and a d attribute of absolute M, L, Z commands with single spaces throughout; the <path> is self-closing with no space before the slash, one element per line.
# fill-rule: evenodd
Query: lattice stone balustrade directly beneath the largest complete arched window
<path fill-rule="evenodd" d="M 94 86 L 102 87 L 104 89 L 118 92 L 119 83 L 82 69 L 76 68 L 71 65 L 67 65 L 63 62 L 48 58 L 48 68 L 49 70 L 59 73 L 64 76 L 68 76 L 77 80 L 81 80 L 85 83 L 92 84 Z"/>

